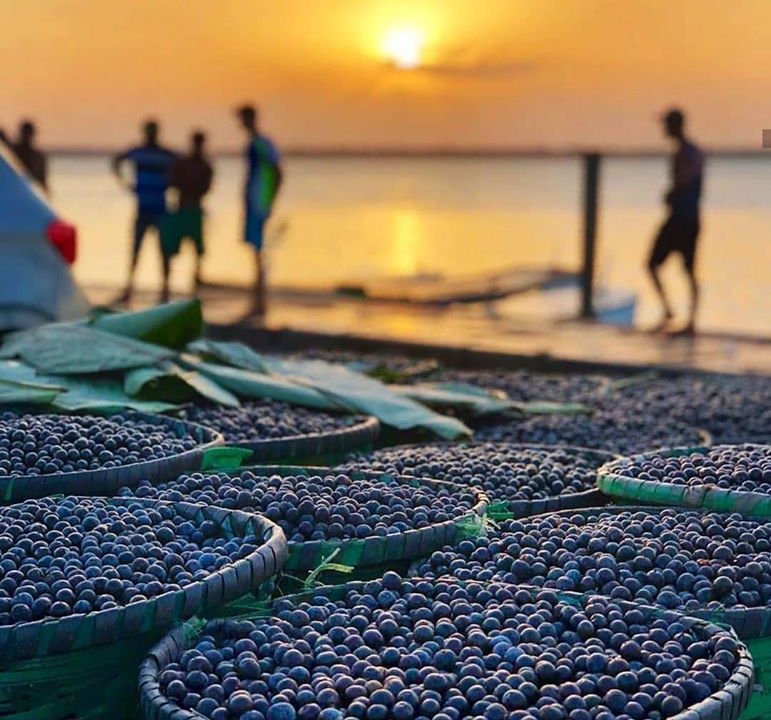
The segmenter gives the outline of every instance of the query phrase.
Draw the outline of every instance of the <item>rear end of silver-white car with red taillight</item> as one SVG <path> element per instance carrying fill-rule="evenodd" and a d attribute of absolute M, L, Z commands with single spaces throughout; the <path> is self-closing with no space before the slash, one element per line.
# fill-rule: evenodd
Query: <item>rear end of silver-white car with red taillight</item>
<path fill-rule="evenodd" d="M 75 228 L 61 220 L 0 143 L 0 332 L 88 312 L 76 285 Z"/>

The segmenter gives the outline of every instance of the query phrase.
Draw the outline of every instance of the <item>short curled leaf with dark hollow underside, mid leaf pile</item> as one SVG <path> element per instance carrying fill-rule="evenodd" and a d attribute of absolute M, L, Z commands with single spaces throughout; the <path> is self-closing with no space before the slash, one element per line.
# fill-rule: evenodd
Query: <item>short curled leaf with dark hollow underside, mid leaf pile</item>
<path fill-rule="evenodd" d="M 220 405 L 241 405 L 233 393 L 214 380 L 173 362 L 129 370 L 123 378 L 123 390 L 127 395 L 146 400 L 188 402 L 198 395 Z"/>

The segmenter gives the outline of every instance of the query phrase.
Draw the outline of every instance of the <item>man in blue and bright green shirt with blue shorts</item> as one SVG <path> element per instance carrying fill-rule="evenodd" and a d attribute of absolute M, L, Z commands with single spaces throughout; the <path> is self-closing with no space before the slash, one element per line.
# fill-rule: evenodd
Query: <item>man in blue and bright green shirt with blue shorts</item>
<path fill-rule="evenodd" d="M 244 239 L 254 248 L 255 282 L 252 312 L 266 310 L 265 263 L 262 257 L 265 223 L 273 210 L 282 181 L 281 159 L 276 146 L 259 131 L 259 116 L 253 105 L 238 109 L 241 125 L 249 136 L 246 146 L 247 176 L 244 188 Z"/>

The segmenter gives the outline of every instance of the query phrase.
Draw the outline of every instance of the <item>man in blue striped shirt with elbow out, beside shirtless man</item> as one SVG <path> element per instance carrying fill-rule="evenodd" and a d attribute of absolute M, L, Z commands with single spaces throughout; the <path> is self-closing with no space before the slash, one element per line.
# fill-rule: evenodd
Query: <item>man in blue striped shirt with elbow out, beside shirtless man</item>
<path fill-rule="evenodd" d="M 160 232 L 161 221 L 166 215 L 166 190 L 169 187 L 171 164 L 174 153 L 158 143 L 158 123 L 148 120 L 142 127 L 144 143 L 131 148 L 112 161 L 113 172 L 123 182 L 121 169 L 128 161 L 134 166 L 134 184 L 129 186 L 137 198 L 137 214 L 134 220 L 134 238 L 131 250 L 128 283 L 123 300 L 129 300 L 134 290 L 134 271 L 145 233 L 150 228 Z M 163 254 L 161 253 L 161 257 Z"/>

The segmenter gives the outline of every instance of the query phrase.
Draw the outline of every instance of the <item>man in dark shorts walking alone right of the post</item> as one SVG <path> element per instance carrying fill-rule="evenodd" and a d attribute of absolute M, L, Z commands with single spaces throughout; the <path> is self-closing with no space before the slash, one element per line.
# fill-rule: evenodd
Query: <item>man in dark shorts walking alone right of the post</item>
<path fill-rule="evenodd" d="M 671 253 L 679 253 L 688 275 L 691 304 L 688 322 L 680 331 L 692 334 L 699 301 L 699 285 L 696 282 L 696 243 L 699 237 L 699 204 L 704 176 L 704 155 L 685 136 L 685 115 L 681 110 L 672 109 L 663 118 L 664 132 L 676 143 L 672 154 L 672 187 L 665 196 L 669 216 L 656 236 L 648 260 L 648 269 L 656 292 L 661 299 L 664 315 L 657 330 L 664 329 L 672 319 L 672 307 L 659 279 L 658 269 Z"/>

